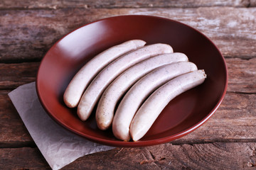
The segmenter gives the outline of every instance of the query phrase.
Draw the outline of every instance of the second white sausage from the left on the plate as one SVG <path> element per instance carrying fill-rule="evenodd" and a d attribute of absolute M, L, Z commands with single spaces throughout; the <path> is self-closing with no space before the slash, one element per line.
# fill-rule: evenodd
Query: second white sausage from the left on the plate
<path fill-rule="evenodd" d="M 101 94 L 106 87 L 113 81 L 119 74 L 124 72 L 125 69 L 132 67 L 134 64 L 146 60 L 154 55 L 173 52 L 170 45 L 154 44 L 146 45 L 145 47 L 130 52 L 128 55 L 119 57 L 117 60 L 109 64 L 105 69 L 97 74 L 97 77 L 92 80 L 91 84 L 82 95 L 80 103 L 78 104 L 78 117 L 81 120 L 87 120 L 92 109 L 95 107 L 97 101 L 100 99 Z"/>

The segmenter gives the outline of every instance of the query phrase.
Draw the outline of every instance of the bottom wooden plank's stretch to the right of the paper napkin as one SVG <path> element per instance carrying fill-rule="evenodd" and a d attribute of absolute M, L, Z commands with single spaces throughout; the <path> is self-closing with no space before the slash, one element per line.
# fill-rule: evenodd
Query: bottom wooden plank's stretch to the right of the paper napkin
<path fill-rule="evenodd" d="M 253 169 L 255 149 L 255 143 L 167 143 L 91 154 L 64 169 Z"/>

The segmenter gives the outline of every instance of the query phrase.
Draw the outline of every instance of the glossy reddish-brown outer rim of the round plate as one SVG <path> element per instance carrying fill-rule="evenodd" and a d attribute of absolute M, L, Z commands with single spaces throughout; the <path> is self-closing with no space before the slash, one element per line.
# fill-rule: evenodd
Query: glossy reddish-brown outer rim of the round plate
<path fill-rule="evenodd" d="M 218 51 L 218 53 L 219 53 L 219 55 L 220 55 L 220 57 L 222 59 L 221 61 L 223 62 L 223 65 L 225 67 L 225 73 L 224 73 L 225 74 L 225 86 L 224 86 L 222 95 L 220 96 L 220 98 L 218 98 L 218 102 L 215 103 L 215 106 L 213 107 L 213 109 L 206 116 L 204 116 L 201 119 L 201 121 L 199 121 L 198 123 L 194 124 L 193 126 L 190 126 L 189 128 L 186 128 L 185 130 L 183 130 L 181 132 L 178 132 L 175 135 L 171 135 L 171 136 L 167 136 L 167 137 L 161 137 L 161 138 L 157 138 L 157 139 L 154 139 L 154 140 L 143 140 L 143 141 L 137 141 L 137 142 L 124 142 L 122 140 L 106 140 L 106 139 L 102 139 L 102 138 L 95 137 L 95 136 L 92 136 L 92 135 L 87 135 L 87 134 L 85 135 L 84 133 L 81 133 L 78 130 L 75 130 L 74 128 L 68 127 L 67 125 L 64 125 L 63 123 L 61 123 L 58 120 L 57 117 L 55 117 L 52 113 L 50 113 L 48 111 L 47 106 L 45 106 L 45 104 L 43 103 L 43 98 L 41 98 L 40 90 L 39 90 L 39 85 L 38 85 L 38 77 L 39 77 L 39 74 L 40 74 L 41 66 L 43 64 L 43 60 L 46 59 L 46 56 L 48 55 L 48 52 L 50 52 L 56 45 L 58 45 L 58 42 L 60 42 L 60 40 L 63 40 L 63 38 L 65 38 L 67 35 L 70 35 L 70 33 L 73 33 L 76 30 L 78 30 L 80 28 L 83 28 L 85 26 L 89 26 L 92 23 L 97 23 L 97 22 L 108 20 L 108 19 L 111 19 L 111 18 L 122 18 L 122 17 L 125 18 L 125 17 L 137 17 L 137 16 L 139 16 L 139 17 L 146 17 L 146 18 L 157 18 L 157 19 L 171 21 L 171 22 L 174 22 L 174 23 L 181 24 L 181 25 L 186 26 L 186 27 L 188 27 L 190 29 L 193 29 L 197 33 L 203 35 L 203 37 L 206 38 L 215 47 L 215 50 Z M 213 43 L 213 41 L 210 40 L 210 38 L 208 38 L 206 35 L 201 33 L 201 31 L 197 30 L 196 28 L 188 26 L 185 23 L 181 23 L 180 21 L 175 21 L 173 19 L 164 18 L 164 17 L 160 17 L 160 16 L 150 16 L 150 15 L 136 15 L 135 14 L 135 15 L 111 16 L 111 17 L 107 17 L 107 18 L 101 18 L 101 19 L 96 20 L 96 21 L 92 21 L 92 22 L 87 23 L 87 24 L 85 24 L 83 26 L 80 26 L 79 28 L 75 28 L 74 30 L 70 31 L 69 33 L 63 35 L 63 37 L 60 38 L 58 41 L 56 41 L 50 47 L 50 49 L 46 52 L 46 54 L 43 55 L 43 59 L 41 60 L 41 63 L 39 65 L 39 67 L 38 67 L 38 72 L 36 74 L 36 94 L 38 95 L 38 99 L 39 99 L 39 101 L 41 103 L 41 106 L 43 106 L 44 111 L 46 111 L 46 113 L 48 113 L 48 115 L 50 115 L 50 118 L 53 118 L 53 120 L 55 120 L 55 123 L 58 123 L 58 125 L 60 125 L 61 128 L 65 128 L 66 130 L 69 130 L 69 131 L 75 133 L 75 135 L 79 135 L 81 137 L 85 137 L 87 140 L 90 140 L 92 142 L 97 142 L 97 143 L 100 143 L 102 145 L 113 146 L 113 147 L 145 147 L 145 146 L 151 146 L 151 145 L 159 145 L 159 144 L 162 144 L 162 143 L 171 142 L 171 141 L 176 140 L 176 139 L 178 139 L 180 137 L 183 137 L 184 135 L 188 135 L 188 133 L 193 132 L 193 130 L 196 130 L 197 128 L 199 128 L 201 125 L 203 125 L 203 123 L 206 123 L 206 121 L 215 113 L 215 111 L 218 110 L 220 104 L 223 102 L 223 99 L 225 97 L 227 89 L 228 89 L 228 67 L 227 67 L 227 64 L 225 62 L 225 58 L 223 57 L 222 53 L 220 52 L 218 47 L 215 45 L 215 43 Z"/>

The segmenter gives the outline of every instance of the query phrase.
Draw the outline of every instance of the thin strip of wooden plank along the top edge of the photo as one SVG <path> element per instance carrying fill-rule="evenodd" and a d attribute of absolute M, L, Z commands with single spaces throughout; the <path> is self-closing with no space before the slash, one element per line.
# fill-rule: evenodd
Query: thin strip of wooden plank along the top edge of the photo
<path fill-rule="evenodd" d="M 0 4 L 1 8 L 146 8 L 146 7 L 175 7 L 175 8 L 196 8 L 202 6 L 235 6 L 235 7 L 249 7 L 254 3 L 250 0 L 246 1 L 224 1 L 224 0 L 189 0 L 189 1 L 166 1 L 166 0 L 147 0 L 147 1 L 124 1 L 124 0 L 110 0 L 110 1 L 93 1 L 93 0 L 39 0 L 39 1 L 8 1 L 2 0 Z"/>

